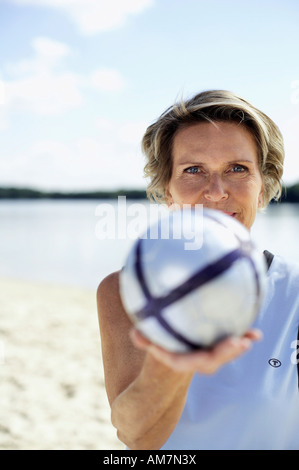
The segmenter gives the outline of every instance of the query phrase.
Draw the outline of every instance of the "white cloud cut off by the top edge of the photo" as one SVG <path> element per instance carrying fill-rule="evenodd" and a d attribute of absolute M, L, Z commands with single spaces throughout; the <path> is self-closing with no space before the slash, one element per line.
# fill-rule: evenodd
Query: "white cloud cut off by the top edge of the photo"
<path fill-rule="evenodd" d="M 64 13 L 81 31 L 92 35 L 116 29 L 130 15 L 141 13 L 154 0 L 12 0 L 19 5 L 53 8 Z"/>

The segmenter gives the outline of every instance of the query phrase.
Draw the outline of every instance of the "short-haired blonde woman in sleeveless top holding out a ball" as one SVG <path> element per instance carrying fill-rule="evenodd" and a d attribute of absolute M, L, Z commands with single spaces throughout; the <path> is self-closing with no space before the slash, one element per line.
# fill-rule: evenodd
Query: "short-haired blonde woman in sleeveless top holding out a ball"
<path fill-rule="evenodd" d="M 169 206 L 203 204 L 250 230 L 257 211 L 280 195 L 280 131 L 233 93 L 207 91 L 175 104 L 149 126 L 142 144 L 148 195 Z M 298 286 L 299 269 L 274 256 L 255 328 L 209 351 L 174 354 L 132 329 L 119 273 L 104 279 L 98 312 L 119 439 L 129 449 L 299 449 L 291 349 Z"/>

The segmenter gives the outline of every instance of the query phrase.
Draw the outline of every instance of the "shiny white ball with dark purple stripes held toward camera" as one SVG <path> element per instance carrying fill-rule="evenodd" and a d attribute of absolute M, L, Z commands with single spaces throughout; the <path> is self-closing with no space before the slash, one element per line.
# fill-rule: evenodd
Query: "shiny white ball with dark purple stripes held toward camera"
<path fill-rule="evenodd" d="M 249 231 L 216 210 L 175 210 L 148 226 L 120 274 L 137 329 L 174 352 L 211 347 L 253 324 L 266 262 Z"/>

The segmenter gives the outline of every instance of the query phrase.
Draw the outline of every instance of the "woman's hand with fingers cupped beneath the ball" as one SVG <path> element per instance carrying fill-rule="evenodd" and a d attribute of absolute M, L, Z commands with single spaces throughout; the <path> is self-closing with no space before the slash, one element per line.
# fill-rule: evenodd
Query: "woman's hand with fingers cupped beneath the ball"
<path fill-rule="evenodd" d="M 248 351 L 253 342 L 262 339 L 260 330 L 252 329 L 242 337 L 229 337 L 209 349 L 201 349 L 188 353 L 173 353 L 146 339 L 136 328 L 130 332 L 133 344 L 152 354 L 157 360 L 177 372 L 198 372 L 213 374 L 243 353 Z"/>

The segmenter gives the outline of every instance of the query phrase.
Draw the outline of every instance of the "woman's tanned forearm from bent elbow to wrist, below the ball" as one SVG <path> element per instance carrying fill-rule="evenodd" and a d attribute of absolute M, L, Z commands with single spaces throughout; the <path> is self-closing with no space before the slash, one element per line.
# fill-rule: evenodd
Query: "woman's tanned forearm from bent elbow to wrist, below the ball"
<path fill-rule="evenodd" d="M 112 423 L 130 449 L 159 449 L 175 428 L 193 374 L 147 355 L 138 377 L 112 403 Z"/>

